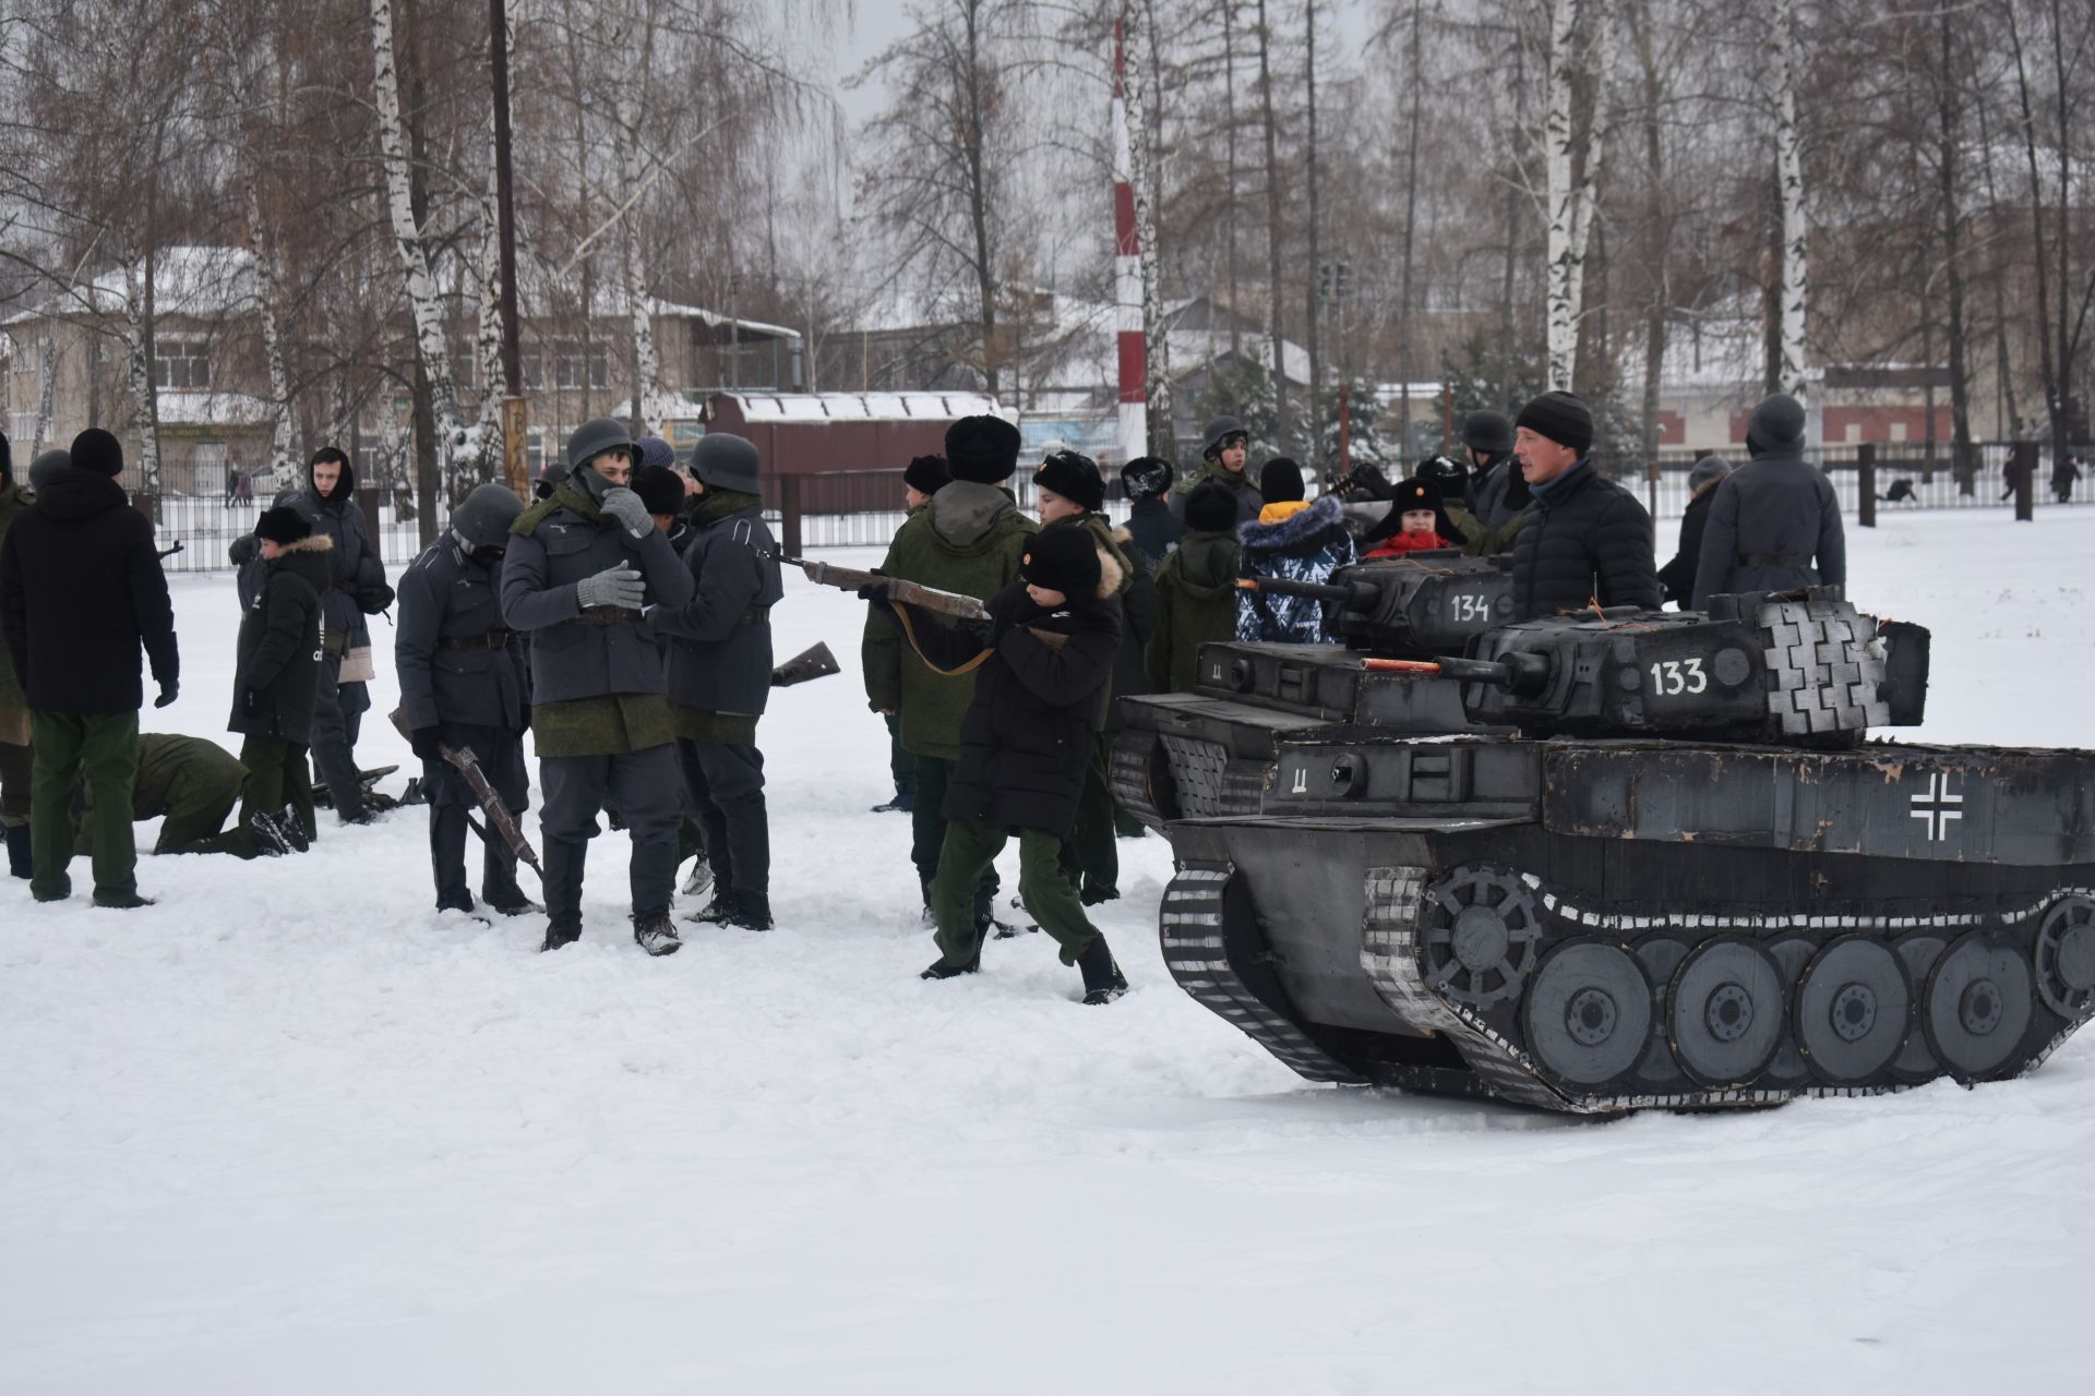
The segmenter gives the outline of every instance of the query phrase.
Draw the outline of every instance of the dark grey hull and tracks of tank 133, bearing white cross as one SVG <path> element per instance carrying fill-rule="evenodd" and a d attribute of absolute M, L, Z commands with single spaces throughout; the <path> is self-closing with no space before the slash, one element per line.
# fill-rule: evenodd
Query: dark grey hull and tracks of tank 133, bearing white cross
<path fill-rule="evenodd" d="M 2017 1076 L 2095 1009 L 2087 753 L 1311 739 L 1267 770 L 1167 825 L 1161 936 L 1311 1080 L 1766 1105 Z"/>

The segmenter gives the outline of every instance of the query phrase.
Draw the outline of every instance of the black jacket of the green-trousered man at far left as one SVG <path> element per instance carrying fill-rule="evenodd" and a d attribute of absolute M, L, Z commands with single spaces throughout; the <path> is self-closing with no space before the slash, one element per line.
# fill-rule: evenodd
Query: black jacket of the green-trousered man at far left
<path fill-rule="evenodd" d="M 96 471 L 59 471 L 8 527 L 0 622 L 31 710 L 136 712 L 140 645 L 161 689 L 180 676 L 153 525 Z"/>

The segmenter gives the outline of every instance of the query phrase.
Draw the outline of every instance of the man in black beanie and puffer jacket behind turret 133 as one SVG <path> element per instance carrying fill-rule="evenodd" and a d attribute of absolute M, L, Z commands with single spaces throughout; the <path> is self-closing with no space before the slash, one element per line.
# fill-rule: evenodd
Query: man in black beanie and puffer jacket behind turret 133
<path fill-rule="evenodd" d="M 1634 605 L 1657 611 L 1651 515 L 1594 467 L 1592 414 L 1571 393 L 1521 408 L 1513 452 L 1536 496 L 1513 544 L 1513 620 Z"/>

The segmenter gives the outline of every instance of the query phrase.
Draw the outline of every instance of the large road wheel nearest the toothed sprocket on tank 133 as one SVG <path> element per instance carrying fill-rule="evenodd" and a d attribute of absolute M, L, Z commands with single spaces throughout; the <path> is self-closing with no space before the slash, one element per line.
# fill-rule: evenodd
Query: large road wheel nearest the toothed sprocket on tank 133
<path fill-rule="evenodd" d="M 1651 984 L 1622 946 L 1573 940 L 1544 961 L 1521 1017 L 1527 1049 L 1550 1076 L 1598 1086 L 1645 1053 Z"/>

